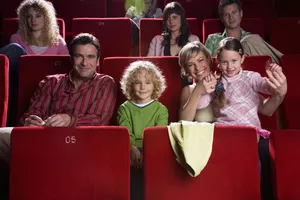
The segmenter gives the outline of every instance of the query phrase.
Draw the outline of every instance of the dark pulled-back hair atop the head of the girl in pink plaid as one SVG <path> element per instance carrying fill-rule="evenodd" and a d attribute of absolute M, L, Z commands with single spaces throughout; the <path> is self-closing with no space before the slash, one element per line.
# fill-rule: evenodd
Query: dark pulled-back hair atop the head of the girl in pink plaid
<path fill-rule="evenodd" d="M 236 51 L 238 52 L 241 56 L 244 55 L 244 49 L 241 44 L 241 42 L 234 37 L 227 37 L 221 40 L 221 42 L 218 45 L 218 48 L 216 50 L 216 55 L 219 60 L 220 55 L 223 51 L 223 49 L 230 50 L 230 51 Z"/>

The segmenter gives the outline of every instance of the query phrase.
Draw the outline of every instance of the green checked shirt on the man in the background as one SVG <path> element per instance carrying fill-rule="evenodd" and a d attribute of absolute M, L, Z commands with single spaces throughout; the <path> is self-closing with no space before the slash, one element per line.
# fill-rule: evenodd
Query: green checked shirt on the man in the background
<path fill-rule="evenodd" d="M 241 39 L 243 39 L 248 34 L 250 34 L 250 33 L 244 31 L 241 28 Z M 205 47 L 207 48 L 207 50 L 209 51 L 211 56 L 215 56 L 215 51 L 219 45 L 219 42 L 221 42 L 221 40 L 223 40 L 226 37 L 227 37 L 226 29 L 224 30 L 224 32 L 222 34 L 214 33 L 214 34 L 208 35 L 207 40 L 205 42 Z"/>

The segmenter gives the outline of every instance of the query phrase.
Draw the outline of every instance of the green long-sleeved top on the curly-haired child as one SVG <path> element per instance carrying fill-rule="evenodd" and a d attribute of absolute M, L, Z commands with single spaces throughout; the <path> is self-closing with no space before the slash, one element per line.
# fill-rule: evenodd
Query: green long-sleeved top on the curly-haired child
<path fill-rule="evenodd" d="M 128 128 L 130 144 L 141 148 L 144 129 L 168 125 L 168 116 L 168 109 L 158 101 L 153 101 L 144 107 L 125 101 L 118 110 L 118 123 Z"/>

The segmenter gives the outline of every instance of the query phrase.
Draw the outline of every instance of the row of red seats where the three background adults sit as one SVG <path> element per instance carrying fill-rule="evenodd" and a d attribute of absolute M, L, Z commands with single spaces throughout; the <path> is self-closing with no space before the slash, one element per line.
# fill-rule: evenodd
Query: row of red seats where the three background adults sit
<path fill-rule="evenodd" d="M 61 35 L 65 37 L 64 20 L 58 19 L 58 22 Z M 203 43 L 209 34 L 224 30 L 220 19 L 206 19 L 200 22 L 196 18 L 188 18 L 188 23 L 192 33 L 198 35 Z M 18 19 L 6 18 L 3 24 L 5 29 L 1 38 L 4 45 L 18 30 Z M 126 18 L 75 18 L 72 21 L 71 38 L 81 32 L 94 34 L 101 44 L 102 59 L 111 56 L 146 56 L 151 39 L 162 32 L 162 19 L 142 19 L 140 27 L 139 52 L 136 53 L 132 47 L 131 21 Z M 259 18 L 244 18 L 242 27 L 251 33 L 259 34 L 284 54 L 300 53 L 300 45 L 297 45 L 300 44 L 300 39 L 296 37 L 300 35 L 300 18 L 278 18 L 269 26 Z"/>

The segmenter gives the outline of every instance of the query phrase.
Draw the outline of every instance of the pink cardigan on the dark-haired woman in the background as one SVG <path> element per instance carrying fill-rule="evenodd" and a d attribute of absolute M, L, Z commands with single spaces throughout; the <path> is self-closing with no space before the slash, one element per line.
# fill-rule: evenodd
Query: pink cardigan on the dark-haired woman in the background
<path fill-rule="evenodd" d="M 164 37 L 162 35 L 156 35 L 150 42 L 149 50 L 147 56 L 164 56 L 164 46 L 162 42 L 164 41 Z M 199 41 L 198 36 L 190 35 L 190 42 Z"/>

